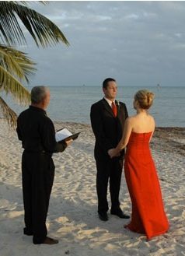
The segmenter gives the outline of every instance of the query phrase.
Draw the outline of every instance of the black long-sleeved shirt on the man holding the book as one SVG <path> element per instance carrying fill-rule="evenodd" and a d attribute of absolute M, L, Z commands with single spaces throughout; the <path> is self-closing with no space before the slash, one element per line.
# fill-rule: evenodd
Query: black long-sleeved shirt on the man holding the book
<path fill-rule="evenodd" d="M 30 106 L 17 119 L 16 132 L 26 152 L 56 153 L 66 148 L 66 143 L 56 142 L 54 124 L 46 111 Z"/>

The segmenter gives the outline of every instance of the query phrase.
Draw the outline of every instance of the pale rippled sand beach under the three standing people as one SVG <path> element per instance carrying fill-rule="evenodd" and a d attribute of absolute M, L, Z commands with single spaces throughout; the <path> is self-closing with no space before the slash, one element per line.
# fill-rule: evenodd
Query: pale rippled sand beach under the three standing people
<path fill-rule="evenodd" d="M 23 235 L 21 155 L 16 132 L 0 120 L 0 255 L 1 256 L 185 256 L 185 128 L 157 128 L 152 153 L 158 169 L 170 228 L 146 241 L 124 229 L 128 220 L 97 216 L 94 136 L 89 124 L 55 122 L 81 132 L 64 153 L 54 154 L 55 179 L 47 216 L 48 235 L 56 245 L 34 245 Z M 131 202 L 122 176 L 121 208 L 131 214 Z"/>

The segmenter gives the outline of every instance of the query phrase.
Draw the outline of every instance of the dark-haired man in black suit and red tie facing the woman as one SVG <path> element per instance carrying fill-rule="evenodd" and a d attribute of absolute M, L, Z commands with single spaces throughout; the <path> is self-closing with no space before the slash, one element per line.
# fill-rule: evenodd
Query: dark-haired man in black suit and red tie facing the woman
<path fill-rule="evenodd" d="M 128 219 L 120 209 L 119 192 L 120 179 L 123 169 L 124 151 L 119 156 L 110 159 L 107 151 L 117 146 L 122 137 L 124 121 L 127 118 L 127 107 L 115 100 L 117 82 L 115 79 L 103 81 L 103 100 L 91 107 L 91 125 L 96 138 L 94 155 L 96 160 L 96 191 L 98 195 L 99 219 L 108 220 L 107 186 L 110 181 L 110 213 L 123 219 Z"/>

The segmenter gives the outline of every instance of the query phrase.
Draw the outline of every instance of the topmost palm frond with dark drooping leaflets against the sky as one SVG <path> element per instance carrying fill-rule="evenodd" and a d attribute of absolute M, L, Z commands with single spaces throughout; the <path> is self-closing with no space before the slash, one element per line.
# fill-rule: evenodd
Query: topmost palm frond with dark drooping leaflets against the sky
<path fill-rule="evenodd" d="M 50 19 L 26 6 L 15 2 L 0 1 L 0 37 L 7 44 L 25 44 L 26 38 L 17 22 L 16 15 L 26 26 L 37 46 L 47 47 L 51 44 L 63 42 L 69 45 L 65 35 Z"/>

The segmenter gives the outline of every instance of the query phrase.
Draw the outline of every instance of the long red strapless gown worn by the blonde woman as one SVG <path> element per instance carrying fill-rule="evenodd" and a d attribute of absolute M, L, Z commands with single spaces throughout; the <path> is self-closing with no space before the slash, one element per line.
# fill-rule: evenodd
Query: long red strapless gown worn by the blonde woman
<path fill-rule="evenodd" d="M 124 173 L 132 203 L 131 223 L 126 227 L 137 233 L 145 233 L 148 239 L 169 229 L 159 179 L 149 149 L 151 135 L 152 132 L 131 132 L 124 160 Z"/>

